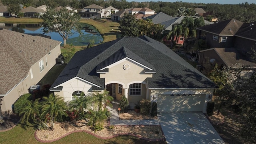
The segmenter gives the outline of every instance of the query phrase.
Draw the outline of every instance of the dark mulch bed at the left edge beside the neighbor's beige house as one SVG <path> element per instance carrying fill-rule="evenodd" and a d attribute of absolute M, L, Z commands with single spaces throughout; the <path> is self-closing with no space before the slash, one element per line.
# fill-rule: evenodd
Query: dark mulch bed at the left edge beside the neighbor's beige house
<path fill-rule="evenodd" d="M 3 118 L 3 121 L 0 120 L 0 131 L 7 130 L 8 128 L 11 128 L 12 126 L 15 126 L 15 124 L 20 120 L 20 117 L 16 114 L 11 114 L 9 118 Z"/>

